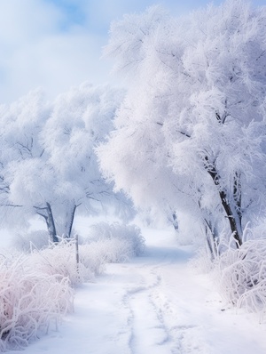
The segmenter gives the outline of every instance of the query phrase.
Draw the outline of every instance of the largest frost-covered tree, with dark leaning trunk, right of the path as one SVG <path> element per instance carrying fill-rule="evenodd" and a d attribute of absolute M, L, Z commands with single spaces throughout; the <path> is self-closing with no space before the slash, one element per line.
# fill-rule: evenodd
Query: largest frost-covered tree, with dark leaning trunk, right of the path
<path fill-rule="evenodd" d="M 130 88 L 98 149 L 106 176 L 137 205 L 190 211 L 241 245 L 265 213 L 266 6 L 152 7 L 110 32 L 106 55 Z"/>

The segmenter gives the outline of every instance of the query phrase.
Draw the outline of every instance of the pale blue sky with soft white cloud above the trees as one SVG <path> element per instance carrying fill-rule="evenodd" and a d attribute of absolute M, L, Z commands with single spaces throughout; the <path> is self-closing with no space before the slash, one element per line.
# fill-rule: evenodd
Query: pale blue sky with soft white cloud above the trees
<path fill-rule="evenodd" d="M 89 80 L 104 84 L 112 63 L 100 60 L 112 20 L 153 4 L 171 13 L 197 10 L 205 0 L 0 0 L 0 102 L 36 87 L 49 97 Z M 214 0 L 214 4 L 222 1 Z M 266 0 L 252 0 L 264 5 Z"/>

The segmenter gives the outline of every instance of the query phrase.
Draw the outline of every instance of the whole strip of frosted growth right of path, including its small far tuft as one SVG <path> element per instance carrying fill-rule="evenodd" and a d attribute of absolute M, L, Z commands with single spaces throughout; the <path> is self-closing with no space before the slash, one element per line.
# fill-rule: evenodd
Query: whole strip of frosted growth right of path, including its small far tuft
<path fill-rule="evenodd" d="M 239 248 L 233 238 L 230 245 L 221 243 L 214 261 L 206 248 L 200 248 L 190 265 L 198 273 L 210 274 L 225 302 L 257 313 L 262 322 L 266 315 L 266 238 L 247 236 L 253 238 Z"/>

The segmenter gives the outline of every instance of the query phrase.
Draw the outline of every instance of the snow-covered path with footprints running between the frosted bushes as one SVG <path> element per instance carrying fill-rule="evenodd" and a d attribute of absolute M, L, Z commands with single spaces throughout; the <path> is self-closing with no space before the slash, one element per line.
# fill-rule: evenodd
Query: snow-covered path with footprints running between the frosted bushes
<path fill-rule="evenodd" d="M 145 257 L 110 264 L 95 284 L 82 286 L 74 315 L 24 353 L 266 353 L 266 325 L 225 309 L 170 232 L 149 233 L 147 246 Z"/>

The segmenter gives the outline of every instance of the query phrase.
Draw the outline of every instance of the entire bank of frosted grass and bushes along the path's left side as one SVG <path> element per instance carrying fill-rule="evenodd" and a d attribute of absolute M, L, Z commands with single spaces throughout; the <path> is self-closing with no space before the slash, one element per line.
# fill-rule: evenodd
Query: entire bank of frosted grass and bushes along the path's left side
<path fill-rule="evenodd" d="M 136 226 L 107 223 L 91 227 L 90 237 L 78 246 L 78 262 L 75 239 L 33 247 L 31 253 L 31 241 L 20 241 L 20 252 L 0 257 L 0 351 L 23 348 L 52 324 L 57 327 L 73 310 L 74 286 L 93 280 L 106 262 L 127 261 L 145 249 Z"/>

